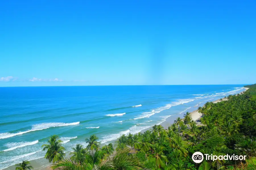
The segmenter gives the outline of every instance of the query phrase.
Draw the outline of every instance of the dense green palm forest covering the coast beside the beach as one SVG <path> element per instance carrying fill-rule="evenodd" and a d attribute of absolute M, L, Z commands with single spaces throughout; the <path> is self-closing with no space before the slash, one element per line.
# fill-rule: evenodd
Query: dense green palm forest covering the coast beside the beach
<path fill-rule="evenodd" d="M 207 102 L 198 111 L 202 117 L 192 120 L 189 112 L 164 129 L 154 125 L 144 133 L 122 135 L 114 146 L 99 147 L 97 137 L 86 139 L 88 146 L 77 144 L 70 158 L 57 136 L 47 145 L 45 158 L 53 169 L 164 169 L 164 170 L 255 170 L 256 169 L 256 87 L 243 94 L 229 95 L 228 100 Z M 194 152 L 213 155 L 246 155 L 240 160 L 204 160 L 194 163 Z"/>

